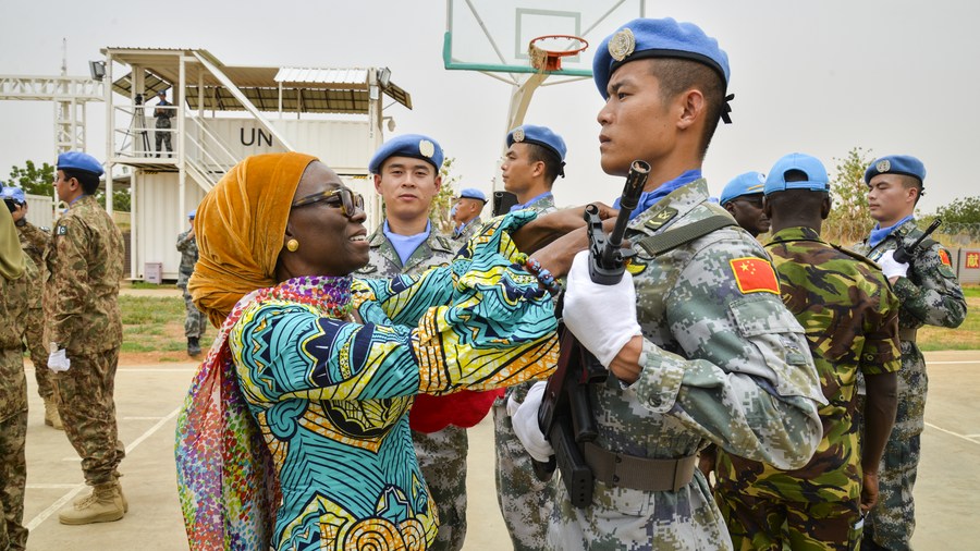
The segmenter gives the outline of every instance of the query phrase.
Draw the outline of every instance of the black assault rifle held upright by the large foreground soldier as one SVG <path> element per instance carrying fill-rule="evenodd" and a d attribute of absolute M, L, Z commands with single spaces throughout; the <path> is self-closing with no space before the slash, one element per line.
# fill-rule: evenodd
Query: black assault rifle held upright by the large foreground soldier
<path fill-rule="evenodd" d="M 612 285 L 623 279 L 626 260 L 633 256 L 633 250 L 623 248 L 623 236 L 629 215 L 639 204 L 649 174 L 650 164 L 633 161 L 620 197 L 620 213 L 609 236 L 602 230 L 599 208 L 595 205 L 586 207 L 589 278 L 593 282 Z M 560 307 L 561 301 L 559 309 Z M 555 468 L 561 470 L 572 504 L 585 507 L 592 501 L 593 478 L 579 445 L 593 441 L 598 436 L 596 416 L 589 400 L 589 384 L 604 381 L 609 374 L 571 331 L 562 328 L 559 340 L 561 355 L 558 369 L 548 379 L 541 408 L 538 409 L 538 426 L 554 448 L 554 456 L 548 463 L 535 462 L 535 474 L 541 480 L 550 480 Z"/>

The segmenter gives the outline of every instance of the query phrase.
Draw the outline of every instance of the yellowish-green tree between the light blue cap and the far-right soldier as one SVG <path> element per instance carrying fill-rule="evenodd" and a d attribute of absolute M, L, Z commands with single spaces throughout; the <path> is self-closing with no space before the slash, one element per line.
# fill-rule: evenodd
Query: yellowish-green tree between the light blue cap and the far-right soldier
<path fill-rule="evenodd" d="M 872 224 L 868 210 L 868 189 L 865 184 L 865 169 L 873 160 L 871 150 L 852 148 L 837 162 L 831 177 L 833 208 L 823 231 L 826 241 L 850 245 L 868 235 Z"/>

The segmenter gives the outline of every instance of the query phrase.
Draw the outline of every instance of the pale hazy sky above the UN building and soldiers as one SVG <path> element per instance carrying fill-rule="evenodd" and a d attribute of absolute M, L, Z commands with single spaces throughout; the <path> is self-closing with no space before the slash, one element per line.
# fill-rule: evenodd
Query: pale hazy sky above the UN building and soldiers
<path fill-rule="evenodd" d="M 975 2 L 648 0 L 646 12 L 697 23 L 728 53 L 735 123 L 719 126 L 708 151 L 714 194 L 792 151 L 819 157 L 833 173 L 835 158 L 855 146 L 922 159 L 926 212 L 980 194 L 972 181 L 980 158 Z M 0 74 L 58 74 L 63 37 L 73 75 L 87 75 L 88 60 L 101 59 L 106 46 L 203 48 L 231 65 L 389 66 L 414 103 L 385 111 L 394 134 L 436 137 L 464 186 L 489 191 L 499 171 L 511 86 L 443 69 L 444 0 L 0 0 Z M 568 144 L 560 205 L 609 201 L 622 191 L 599 167 L 601 106 L 591 81 L 541 88 L 531 102 L 526 122 L 551 126 Z M 0 179 L 25 159 L 51 159 L 53 111 L 47 102 L 0 101 Z M 88 118 L 89 150 L 103 157 L 101 105 Z"/>

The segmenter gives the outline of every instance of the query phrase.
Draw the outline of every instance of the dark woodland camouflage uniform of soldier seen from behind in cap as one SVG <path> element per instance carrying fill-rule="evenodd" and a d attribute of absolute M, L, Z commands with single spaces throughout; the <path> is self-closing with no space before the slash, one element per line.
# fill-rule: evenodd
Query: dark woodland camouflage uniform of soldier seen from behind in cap
<path fill-rule="evenodd" d="M 807 332 L 830 402 L 820 408 L 823 439 L 796 470 L 720 452 L 715 497 L 735 549 L 782 551 L 784 542 L 792 549 L 854 549 L 860 541 L 861 449 L 853 418 L 858 372 L 901 367 L 898 298 L 875 264 L 830 245 L 810 228 L 781 230 L 765 249 L 783 302 Z"/>

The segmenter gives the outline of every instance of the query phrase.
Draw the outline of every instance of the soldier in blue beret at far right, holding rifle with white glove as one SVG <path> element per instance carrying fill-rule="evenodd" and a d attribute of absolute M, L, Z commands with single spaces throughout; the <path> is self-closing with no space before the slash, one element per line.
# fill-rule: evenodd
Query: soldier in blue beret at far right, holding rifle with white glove
<path fill-rule="evenodd" d="M 928 390 L 926 359 L 916 345 L 916 330 L 923 325 L 954 328 L 966 318 L 966 299 L 953 273 L 950 253 L 942 245 L 927 238 L 910 261 L 896 262 L 894 258 L 896 248 L 922 235 L 912 212 L 924 180 L 926 167 L 909 156 L 882 157 L 865 171 L 868 207 L 878 224 L 854 248 L 881 265 L 902 303 L 902 370 L 895 428 L 881 464 L 881 498 L 866 518 L 862 549 L 910 549 L 916 527 L 912 487 Z"/>

